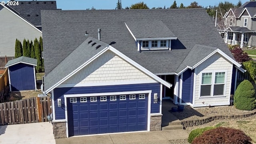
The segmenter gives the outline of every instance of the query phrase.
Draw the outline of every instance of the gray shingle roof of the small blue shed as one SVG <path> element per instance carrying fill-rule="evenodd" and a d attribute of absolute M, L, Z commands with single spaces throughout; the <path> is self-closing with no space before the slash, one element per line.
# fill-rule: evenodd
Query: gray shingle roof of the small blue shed
<path fill-rule="evenodd" d="M 20 62 L 28 63 L 30 65 L 37 65 L 37 59 L 21 56 L 16 59 L 12 59 L 12 60 L 8 61 L 4 67 L 10 67 L 10 65 L 14 65 L 14 64 L 20 63 Z"/>

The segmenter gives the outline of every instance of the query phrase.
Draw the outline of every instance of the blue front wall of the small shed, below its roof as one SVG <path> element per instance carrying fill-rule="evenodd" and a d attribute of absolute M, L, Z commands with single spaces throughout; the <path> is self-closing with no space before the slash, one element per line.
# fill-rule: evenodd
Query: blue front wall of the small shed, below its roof
<path fill-rule="evenodd" d="M 18 63 L 9 67 L 12 91 L 34 90 L 34 66 Z"/>

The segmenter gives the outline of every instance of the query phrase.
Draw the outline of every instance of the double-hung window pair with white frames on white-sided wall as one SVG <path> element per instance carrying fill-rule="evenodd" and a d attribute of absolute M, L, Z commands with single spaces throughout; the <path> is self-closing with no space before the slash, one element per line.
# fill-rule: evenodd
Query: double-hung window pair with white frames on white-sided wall
<path fill-rule="evenodd" d="M 202 73 L 200 97 L 224 96 L 226 72 Z"/>

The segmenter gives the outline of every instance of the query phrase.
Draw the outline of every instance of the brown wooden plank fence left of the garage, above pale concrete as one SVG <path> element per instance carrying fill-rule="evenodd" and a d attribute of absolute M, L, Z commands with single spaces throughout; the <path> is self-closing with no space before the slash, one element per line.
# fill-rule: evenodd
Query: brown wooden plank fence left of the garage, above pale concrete
<path fill-rule="evenodd" d="M 0 125 L 46 122 L 52 113 L 50 97 L 0 103 Z"/>

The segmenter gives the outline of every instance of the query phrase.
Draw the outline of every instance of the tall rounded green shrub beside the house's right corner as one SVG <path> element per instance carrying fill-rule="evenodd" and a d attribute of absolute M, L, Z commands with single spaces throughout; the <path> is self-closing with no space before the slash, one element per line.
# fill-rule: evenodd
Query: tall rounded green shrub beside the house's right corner
<path fill-rule="evenodd" d="M 234 106 L 240 110 L 253 110 L 256 107 L 255 90 L 248 80 L 242 81 L 235 91 Z"/>

